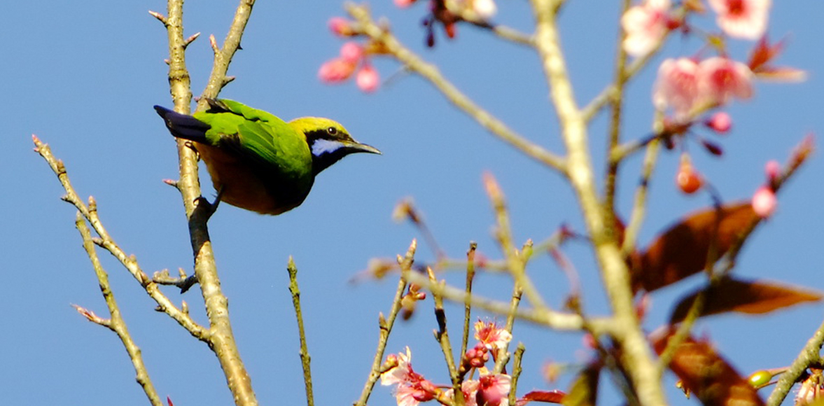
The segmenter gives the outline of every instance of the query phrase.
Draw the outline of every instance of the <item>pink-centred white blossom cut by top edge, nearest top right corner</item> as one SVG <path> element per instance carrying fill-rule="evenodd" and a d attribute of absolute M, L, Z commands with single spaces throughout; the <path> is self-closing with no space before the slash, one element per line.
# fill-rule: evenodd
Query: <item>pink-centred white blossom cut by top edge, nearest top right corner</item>
<path fill-rule="evenodd" d="M 770 0 L 709 0 L 718 25 L 729 36 L 757 40 L 767 27 Z"/>

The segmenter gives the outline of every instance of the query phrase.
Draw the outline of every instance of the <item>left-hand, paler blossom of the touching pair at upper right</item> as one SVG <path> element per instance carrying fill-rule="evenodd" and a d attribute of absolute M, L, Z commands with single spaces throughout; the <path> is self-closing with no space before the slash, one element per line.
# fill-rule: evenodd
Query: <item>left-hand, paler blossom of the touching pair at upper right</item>
<path fill-rule="evenodd" d="M 698 63 L 691 58 L 669 58 L 658 68 L 653 103 L 658 109 L 672 107 L 676 119 L 685 118 L 698 96 Z"/>

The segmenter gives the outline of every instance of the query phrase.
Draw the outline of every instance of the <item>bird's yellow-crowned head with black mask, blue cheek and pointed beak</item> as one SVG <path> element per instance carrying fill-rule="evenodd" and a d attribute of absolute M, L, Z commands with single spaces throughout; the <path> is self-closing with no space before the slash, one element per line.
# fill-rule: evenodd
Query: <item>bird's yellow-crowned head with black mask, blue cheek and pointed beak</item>
<path fill-rule="evenodd" d="M 302 117 L 289 122 L 307 138 L 312 156 L 312 172 L 317 175 L 340 158 L 355 152 L 380 154 L 376 147 L 355 141 L 343 125 L 321 117 Z"/>

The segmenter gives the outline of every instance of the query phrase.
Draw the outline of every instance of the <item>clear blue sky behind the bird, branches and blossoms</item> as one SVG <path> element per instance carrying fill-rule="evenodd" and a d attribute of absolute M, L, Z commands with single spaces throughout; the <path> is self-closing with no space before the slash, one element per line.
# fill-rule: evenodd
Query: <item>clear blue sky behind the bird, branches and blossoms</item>
<path fill-rule="evenodd" d="M 569 2 L 561 17 L 562 38 L 578 103 L 584 105 L 611 78 L 617 30 L 614 2 Z M 202 32 L 190 46 L 187 63 L 195 94 L 211 69 L 209 34 L 222 39 L 235 2 L 187 2 L 185 32 Z M 119 340 L 107 329 L 83 320 L 71 307 L 105 314 L 94 273 L 74 229 L 74 209 L 60 201 L 57 180 L 34 152 L 30 134 L 48 142 L 65 161 L 78 193 L 93 195 L 110 234 L 146 272 L 190 269 L 190 243 L 175 189 L 162 183 L 176 178 L 173 138 L 152 105 L 171 105 L 166 82 L 166 31 L 147 10 L 165 12 L 153 2 L 11 2 L 3 7 L 0 33 L 6 57 L 0 63 L 4 106 L 4 147 L 0 148 L 0 268 L 5 289 L 0 296 L 3 365 L 0 393 L 8 404 L 138 405 L 146 400 L 134 383 L 133 369 Z M 536 55 L 506 44 L 486 32 L 459 26 L 456 40 L 438 32 L 434 49 L 424 47 L 419 24 L 426 7 L 398 10 L 389 1 L 372 2 L 376 16 L 388 16 L 400 40 L 428 61 L 480 105 L 534 142 L 562 152 L 555 114 Z M 388 311 L 395 278 L 353 285 L 349 279 L 374 257 L 393 258 L 419 237 L 408 224 L 391 220 L 393 206 L 411 196 L 447 252 L 460 258 L 471 240 L 492 258 L 499 250 L 490 237 L 494 217 L 481 184 L 494 174 L 508 196 L 514 236 L 542 240 L 562 223 L 582 229 L 569 186 L 551 170 L 520 156 L 449 105 L 418 77 L 400 76 L 372 95 L 352 83 L 326 86 L 316 78 L 321 63 L 338 54 L 341 44 L 326 29 L 342 15 L 340 2 L 259 2 L 254 9 L 230 74 L 236 76 L 221 96 L 268 110 L 284 119 L 320 115 L 338 120 L 361 142 L 383 156 L 356 155 L 326 170 L 300 208 L 279 217 L 263 217 L 222 206 L 209 223 L 222 287 L 230 300 L 241 355 L 261 404 L 299 404 L 303 390 L 297 357 L 297 329 L 287 290 L 286 263 L 293 255 L 299 269 L 302 303 L 309 334 L 317 404 L 349 404 L 357 399 L 377 342 L 377 313 Z M 695 165 L 724 198 L 749 198 L 763 182 L 770 159 L 784 161 L 808 132 L 824 128 L 822 98 L 824 27 L 820 2 L 775 2 L 770 37 L 788 38 L 779 62 L 803 68 L 801 84 L 758 83 L 756 96 L 728 109 L 732 133 L 715 138 L 722 158 L 691 145 Z M 501 21 L 531 30 L 527 2 L 501 0 Z M 703 23 L 711 23 L 705 17 Z M 711 26 L 706 24 L 705 26 Z M 750 43 L 733 41 L 731 54 L 744 58 Z M 699 45 L 674 39 L 670 56 L 691 55 Z M 643 137 L 652 119 L 650 89 L 657 58 L 631 82 L 625 139 Z M 398 71 L 396 63 L 376 59 L 382 77 Z M 606 145 L 605 114 L 592 124 L 595 156 Z M 706 133 L 713 138 L 714 136 Z M 653 178 L 646 244 L 668 222 L 709 203 L 705 194 L 685 197 L 672 182 L 678 155 L 662 154 Z M 627 215 L 640 156 L 624 166 L 619 208 Z M 782 189 L 775 216 L 747 243 L 737 273 L 774 278 L 824 290 L 817 278 L 824 263 L 822 235 L 822 161 L 812 157 Z M 213 196 L 208 175 L 204 194 Z M 570 244 L 585 287 L 585 308 L 603 314 L 605 301 L 589 250 Z M 175 404 L 231 404 L 222 372 L 212 353 L 174 321 L 153 309 L 153 302 L 133 279 L 101 251 L 115 295 L 133 337 L 143 349 L 148 370 L 162 396 Z M 433 258 L 422 245 L 418 259 Z M 550 303 L 559 306 L 566 280 L 547 259 L 529 271 Z M 460 273 L 446 275 L 462 280 Z M 506 297 L 509 281 L 483 274 L 478 292 Z M 670 303 L 689 287 L 668 287 L 653 295 L 646 326 L 667 317 Z M 503 288 L 502 288 L 503 287 Z M 190 304 L 205 321 L 197 292 L 175 301 Z M 442 356 L 431 331 L 436 328 L 431 301 L 421 303 L 412 320 L 400 323 L 387 350 L 409 345 L 417 371 L 447 381 Z M 461 311 L 450 306 L 457 331 Z M 480 313 L 479 315 L 485 316 Z M 799 306 L 765 317 L 722 315 L 701 321 L 707 334 L 743 373 L 787 365 L 817 325 L 822 305 Z M 565 389 L 541 379 L 550 360 L 580 362 L 579 334 L 558 334 L 518 324 L 514 339 L 527 345 L 519 392 Z M 608 383 L 608 380 L 604 380 Z M 611 391 L 606 390 L 605 396 Z M 695 404 L 672 390 L 674 404 Z M 615 403 L 615 402 L 611 402 Z M 377 388 L 371 404 L 394 404 L 390 391 Z"/>

